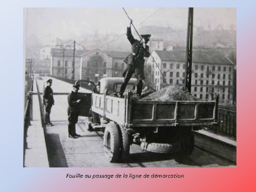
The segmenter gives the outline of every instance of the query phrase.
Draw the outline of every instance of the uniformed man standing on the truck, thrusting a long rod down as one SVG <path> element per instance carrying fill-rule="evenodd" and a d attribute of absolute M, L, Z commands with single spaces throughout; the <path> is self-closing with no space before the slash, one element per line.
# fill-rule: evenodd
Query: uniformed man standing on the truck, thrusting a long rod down
<path fill-rule="evenodd" d="M 132 24 L 132 20 L 130 20 L 130 26 Z M 134 39 L 132 35 L 132 31 L 130 27 L 127 27 L 127 38 L 129 42 L 132 44 L 132 51 L 133 53 L 129 54 L 125 59 L 124 62 L 127 64 L 126 69 L 123 72 L 124 81 L 121 85 L 119 96 L 122 97 L 126 86 L 132 77 L 132 74 L 135 74 L 137 78 L 137 95 L 140 97 L 142 92 L 142 80 L 145 79 L 144 77 L 144 57 L 149 57 L 149 46 L 146 45 L 148 43 L 150 34 L 141 35 L 142 40 L 138 41 Z"/>

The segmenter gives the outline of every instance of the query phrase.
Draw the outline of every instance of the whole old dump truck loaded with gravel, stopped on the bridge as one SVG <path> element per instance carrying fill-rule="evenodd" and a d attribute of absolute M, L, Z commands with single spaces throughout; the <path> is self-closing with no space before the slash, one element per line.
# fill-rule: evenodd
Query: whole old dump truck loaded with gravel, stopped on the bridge
<path fill-rule="evenodd" d="M 214 101 L 142 100 L 132 96 L 136 85 L 132 78 L 124 98 L 119 98 L 114 93 L 122 81 L 123 78 L 102 78 L 98 91 L 94 82 L 76 81 L 92 85 L 92 92 L 85 93 L 80 116 L 86 117 L 88 130 L 104 131 L 103 149 L 110 162 L 126 161 L 132 144 L 140 145 L 144 151 L 190 155 L 194 148 L 193 130 L 217 123 L 218 96 Z M 92 113 L 99 117 L 99 123 L 93 122 Z"/>

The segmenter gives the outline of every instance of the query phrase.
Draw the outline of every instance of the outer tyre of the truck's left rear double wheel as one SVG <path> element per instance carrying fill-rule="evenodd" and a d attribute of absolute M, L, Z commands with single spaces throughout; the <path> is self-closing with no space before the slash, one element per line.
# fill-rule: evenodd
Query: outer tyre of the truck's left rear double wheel
<path fill-rule="evenodd" d="M 110 162 L 118 162 L 121 156 L 121 134 L 114 122 L 106 125 L 103 136 L 103 149 Z"/>

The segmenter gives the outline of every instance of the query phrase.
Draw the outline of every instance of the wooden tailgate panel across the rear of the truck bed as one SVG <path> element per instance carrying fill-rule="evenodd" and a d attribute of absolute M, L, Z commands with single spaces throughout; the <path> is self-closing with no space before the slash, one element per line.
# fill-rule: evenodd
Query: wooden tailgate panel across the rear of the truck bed
<path fill-rule="evenodd" d="M 215 101 L 132 101 L 133 126 L 209 125 L 215 119 Z"/>

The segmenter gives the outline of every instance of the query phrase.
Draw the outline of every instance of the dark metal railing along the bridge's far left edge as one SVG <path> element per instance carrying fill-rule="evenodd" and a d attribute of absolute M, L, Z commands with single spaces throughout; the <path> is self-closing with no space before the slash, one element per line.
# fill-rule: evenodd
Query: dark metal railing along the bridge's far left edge
<path fill-rule="evenodd" d="M 25 153 L 27 149 L 27 130 L 28 126 L 30 126 L 30 120 L 33 120 L 33 100 L 32 100 L 32 92 L 33 92 L 33 82 L 34 78 L 32 78 L 32 83 L 30 87 L 30 91 L 27 93 L 27 102 L 24 112 L 24 133 L 23 133 L 23 167 L 25 167 Z"/>

